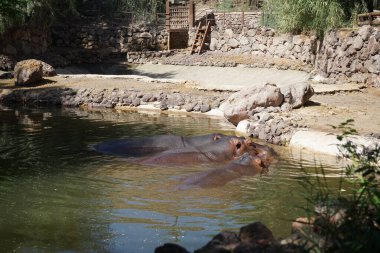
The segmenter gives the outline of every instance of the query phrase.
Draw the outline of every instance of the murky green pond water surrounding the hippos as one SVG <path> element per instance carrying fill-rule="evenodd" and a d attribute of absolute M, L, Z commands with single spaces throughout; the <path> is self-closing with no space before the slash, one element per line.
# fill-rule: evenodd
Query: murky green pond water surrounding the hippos
<path fill-rule="evenodd" d="M 202 117 L 0 109 L 0 252 L 153 252 L 165 242 L 194 250 L 257 220 L 287 236 L 289 220 L 302 214 L 299 152 L 276 148 L 280 159 L 266 176 L 175 191 L 179 178 L 209 167 L 144 167 L 91 148 L 135 136 L 232 133 L 226 126 Z M 321 163 L 301 160 L 311 173 Z M 334 158 L 322 163 L 338 173 Z"/>

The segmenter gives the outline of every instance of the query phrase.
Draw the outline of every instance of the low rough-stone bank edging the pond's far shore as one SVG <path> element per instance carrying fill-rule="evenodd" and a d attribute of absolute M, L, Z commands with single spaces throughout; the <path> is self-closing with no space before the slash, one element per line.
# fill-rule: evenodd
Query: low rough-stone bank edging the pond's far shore
<path fill-rule="evenodd" d="M 70 79 L 70 78 L 69 78 Z M 154 87 L 154 85 L 153 85 Z M 0 90 L 0 103 L 28 106 L 53 105 L 64 107 L 109 108 L 119 110 L 152 109 L 223 116 L 220 109 L 230 91 L 161 90 L 159 88 L 20 88 Z M 246 116 L 254 124 L 245 125 L 245 133 L 268 143 L 286 145 L 296 129 L 303 128 L 301 118 L 291 117 L 289 108 L 256 107 Z M 246 122 L 246 121 L 244 121 Z M 244 123 L 243 122 L 243 123 Z M 237 123 L 236 123 L 237 124 Z M 242 129 L 242 125 L 239 126 Z M 244 128 L 243 127 L 243 128 Z M 243 131 L 241 131 L 243 132 Z"/>

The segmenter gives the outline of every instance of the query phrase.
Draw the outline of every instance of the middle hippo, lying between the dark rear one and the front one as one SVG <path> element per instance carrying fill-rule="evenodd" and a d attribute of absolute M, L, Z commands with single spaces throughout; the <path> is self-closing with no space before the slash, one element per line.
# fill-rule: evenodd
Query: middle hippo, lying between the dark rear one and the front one
<path fill-rule="evenodd" d="M 205 145 L 167 150 L 142 159 L 140 163 L 144 165 L 192 165 L 231 161 L 242 156 L 247 151 L 249 143 L 241 137 L 224 136 Z"/>

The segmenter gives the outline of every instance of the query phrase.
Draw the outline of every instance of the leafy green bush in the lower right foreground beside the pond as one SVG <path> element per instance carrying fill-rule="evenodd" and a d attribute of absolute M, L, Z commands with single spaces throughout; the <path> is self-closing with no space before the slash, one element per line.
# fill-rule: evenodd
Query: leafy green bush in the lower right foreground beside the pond
<path fill-rule="evenodd" d="M 338 189 L 328 186 L 323 170 L 316 182 L 307 180 L 304 184 L 307 214 L 316 217 L 313 229 L 304 231 L 307 250 L 380 252 L 380 147 L 368 150 L 349 141 L 347 137 L 356 133 L 352 120 L 335 128 L 342 130 L 338 136 L 344 142 L 342 157 L 351 163 Z"/>

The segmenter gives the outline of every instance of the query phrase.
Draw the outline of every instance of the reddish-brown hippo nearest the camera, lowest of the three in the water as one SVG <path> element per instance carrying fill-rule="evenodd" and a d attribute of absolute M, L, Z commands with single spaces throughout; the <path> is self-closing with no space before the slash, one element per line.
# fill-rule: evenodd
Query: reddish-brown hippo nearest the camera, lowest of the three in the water
<path fill-rule="evenodd" d="M 176 190 L 186 190 L 192 187 L 219 187 L 242 176 L 255 176 L 267 172 L 268 167 L 262 163 L 259 157 L 246 152 L 222 168 L 196 173 L 182 179 Z"/>

